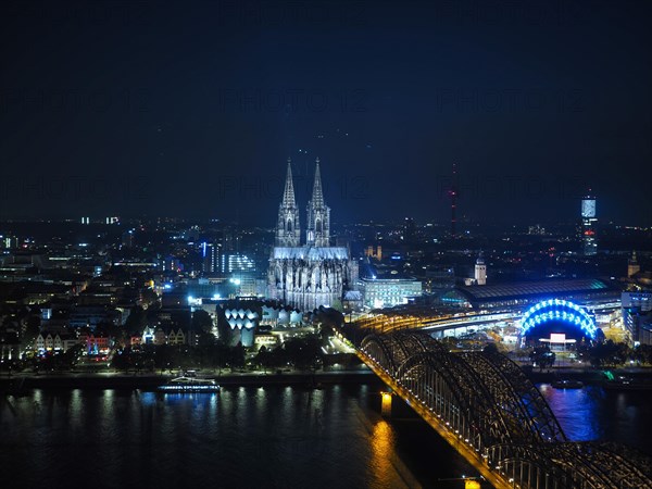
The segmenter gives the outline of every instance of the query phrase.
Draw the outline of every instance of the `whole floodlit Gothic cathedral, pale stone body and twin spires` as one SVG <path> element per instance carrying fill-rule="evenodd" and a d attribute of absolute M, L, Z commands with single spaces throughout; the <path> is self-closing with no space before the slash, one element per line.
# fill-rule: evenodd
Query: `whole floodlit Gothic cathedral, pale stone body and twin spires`
<path fill-rule="evenodd" d="M 292 167 L 278 209 L 276 238 L 267 274 L 268 296 L 299 311 L 341 302 L 358 279 L 358 262 L 348 248 L 330 246 L 330 208 L 324 201 L 319 159 L 316 160 L 312 198 L 308 203 L 305 243 L 301 244 L 299 208 L 294 199 Z"/>

